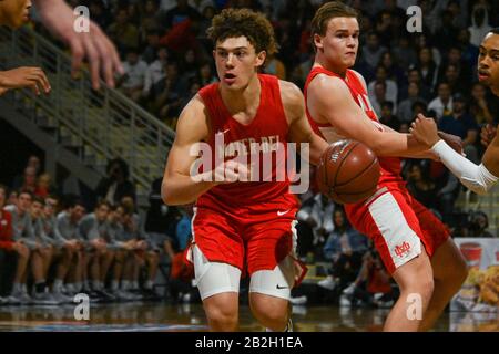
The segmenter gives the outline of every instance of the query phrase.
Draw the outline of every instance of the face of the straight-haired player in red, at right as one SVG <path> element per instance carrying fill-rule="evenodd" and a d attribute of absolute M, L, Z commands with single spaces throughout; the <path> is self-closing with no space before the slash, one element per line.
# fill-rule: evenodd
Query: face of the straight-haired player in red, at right
<path fill-rule="evenodd" d="M 335 67 L 354 66 L 358 50 L 359 27 L 355 18 L 334 18 L 327 24 L 326 35 L 314 37 L 317 52 Z"/>

